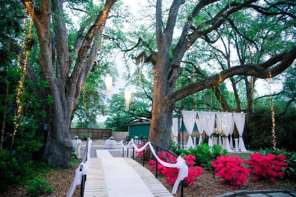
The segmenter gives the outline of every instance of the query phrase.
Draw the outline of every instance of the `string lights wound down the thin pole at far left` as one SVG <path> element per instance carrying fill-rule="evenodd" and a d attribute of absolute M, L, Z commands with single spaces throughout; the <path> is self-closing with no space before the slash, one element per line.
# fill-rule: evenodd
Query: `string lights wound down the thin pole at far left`
<path fill-rule="evenodd" d="M 20 121 L 19 119 L 23 113 L 23 103 L 21 103 L 21 99 L 23 98 L 23 95 L 24 95 L 23 84 L 25 81 L 27 60 L 28 60 L 28 55 L 29 55 L 29 49 L 25 46 L 25 40 L 26 39 L 29 40 L 31 38 L 35 1 L 34 1 L 34 3 L 29 1 L 25 7 L 28 12 L 28 14 L 25 13 L 25 15 L 24 15 L 25 19 L 24 19 L 23 34 L 22 34 L 24 37 L 23 42 L 22 42 L 22 47 L 23 47 L 23 54 L 25 54 L 25 59 L 23 60 L 23 68 L 22 68 L 22 66 L 21 66 L 21 64 L 22 64 L 21 51 L 20 51 L 20 54 L 18 55 L 19 69 L 17 71 L 20 70 L 21 73 L 20 73 L 20 80 L 19 80 L 19 88 L 17 89 L 17 92 L 16 92 L 17 107 L 16 107 L 16 115 L 14 116 L 14 130 L 13 130 L 13 134 L 12 134 L 10 150 L 12 148 L 12 144 L 14 141 L 14 135 L 16 134 L 17 128 L 19 127 L 19 121 Z M 30 22 L 29 22 L 29 32 L 26 37 L 26 27 L 27 27 L 27 18 L 28 17 L 30 17 Z"/>

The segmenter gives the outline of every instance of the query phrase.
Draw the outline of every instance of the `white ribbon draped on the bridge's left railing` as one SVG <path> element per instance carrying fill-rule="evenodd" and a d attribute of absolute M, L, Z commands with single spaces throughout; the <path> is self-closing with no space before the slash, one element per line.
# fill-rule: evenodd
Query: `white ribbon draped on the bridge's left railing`
<path fill-rule="evenodd" d="M 68 193 L 67 197 L 72 196 L 75 191 L 76 186 L 81 184 L 82 175 L 88 174 L 89 168 L 91 166 L 91 163 L 90 163 L 90 146 L 91 145 L 92 145 L 92 140 L 89 139 L 88 140 L 88 147 L 87 147 L 87 160 L 85 163 L 80 163 L 78 168 L 76 169 L 73 184 L 71 185 L 72 188 L 71 188 L 70 193 Z M 80 171 L 81 165 L 83 166 L 82 171 Z"/>

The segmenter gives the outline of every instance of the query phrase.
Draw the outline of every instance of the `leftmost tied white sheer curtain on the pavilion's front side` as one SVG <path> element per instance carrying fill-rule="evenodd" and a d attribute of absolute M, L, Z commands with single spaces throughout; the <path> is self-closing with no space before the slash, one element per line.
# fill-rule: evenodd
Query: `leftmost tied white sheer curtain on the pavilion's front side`
<path fill-rule="evenodd" d="M 182 111 L 183 122 L 189 134 L 188 142 L 187 142 L 188 148 L 193 147 L 193 141 L 192 141 L 191 135 L 192 135 L 193 127 L 195 124 L 196 114 L 197 114 L 197 111 Z"/>

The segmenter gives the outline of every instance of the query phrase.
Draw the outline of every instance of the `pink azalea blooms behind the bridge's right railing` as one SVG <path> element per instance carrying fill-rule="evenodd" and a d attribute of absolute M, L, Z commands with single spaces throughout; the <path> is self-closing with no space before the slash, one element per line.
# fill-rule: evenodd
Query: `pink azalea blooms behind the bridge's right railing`
<path fill-rule="evenodd" d="M 177 162 L 177 159 L 165 152 L 165 151 L 161 151 L 160 152 L 162 155 L 165 155 L 168 159 L 171 159 L 173 162 Z M 164 159 L 163 157 L 159 156 L 158 157 L 164 161 L 164 162 L 167 162 L 166 159 Z M 193 186 L 194 184 L 194 180 L 196 179 L 196 177 L 198 177 L 199 175 L 202 174 L 202 168 L 201 167 L 198 167 L 198 166 L 193 166 L 193 160 L 195 160 L 195 157 L 193 155 L 187 155 L 187 156 L 184 156 L 184 159 L 187 163 L 189 163 L 191 166 L 188 167 L 188 177 L 184 179 L 185 183 L 187 184 L 190 184 L 191 186 Z M 155 161 L 154 160 L 151 160 L 150 162 L 148 162 L 148 164 L 150 166 L 153 166 L 155 167 Z M 157 170 L 164 176 L 167 176 L 167 183 L 170 183 L 170 184 L 174 184 L 177 177 L 178 177 L 178 174 L 179 174 L 179 169 L 178 168 L 170 168 L 170 167 L 165 167 L 163 166 L 161 163 L 157 163 Z M 155 171 L 155 169 L 151 168 L 150 171 Z"/>

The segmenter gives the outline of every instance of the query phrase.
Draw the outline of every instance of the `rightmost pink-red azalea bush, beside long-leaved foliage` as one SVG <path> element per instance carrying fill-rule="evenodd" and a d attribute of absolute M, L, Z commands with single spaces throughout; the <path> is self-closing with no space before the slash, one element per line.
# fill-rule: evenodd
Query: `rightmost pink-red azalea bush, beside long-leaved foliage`
<path fill-rule="evenodd" d="M 288 168 L 285 159 L 284 155 L 274 156 L 268 153 L 262 156 L 260 153 L 254 153 L 245 163 L 253 167 L 254 180 L 270 177 L 270 181 L 276 181 L 276 177 L 284 176 L 283 168 Z"/>

